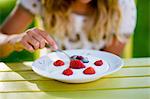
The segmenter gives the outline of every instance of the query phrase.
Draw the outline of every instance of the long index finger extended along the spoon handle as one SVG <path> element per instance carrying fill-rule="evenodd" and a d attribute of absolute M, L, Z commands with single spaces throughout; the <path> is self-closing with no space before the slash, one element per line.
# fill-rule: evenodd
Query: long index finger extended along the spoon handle
<path fill-rule="evenodd" d="M 54 49 L 58 49 L 56 42 L 52 37 L 48 35 L 45 31 L 39 30 L 39 29 L 34 29 L 35 32 L 39 33 L 45 40 L 50 44 Z"/>

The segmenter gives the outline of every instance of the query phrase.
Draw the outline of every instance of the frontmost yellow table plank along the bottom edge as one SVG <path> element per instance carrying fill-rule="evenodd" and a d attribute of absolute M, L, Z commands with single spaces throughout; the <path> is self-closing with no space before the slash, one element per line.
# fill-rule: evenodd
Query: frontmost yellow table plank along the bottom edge
<path fill-rule="evenodd" d="M 0 99 L 149 99 L 150 88 L 69 92 L 0 93 Z"/>

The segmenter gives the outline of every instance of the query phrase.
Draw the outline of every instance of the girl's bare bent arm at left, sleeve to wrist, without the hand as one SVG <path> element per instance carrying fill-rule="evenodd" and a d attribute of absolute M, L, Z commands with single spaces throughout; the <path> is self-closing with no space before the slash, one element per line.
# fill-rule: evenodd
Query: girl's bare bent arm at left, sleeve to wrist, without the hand
<path fill-rule="evenodd" d="M 34 16 L 22 6 L 17 6 L 0 27 L 0 57 L 6 57 L 15 49 L 13 43 L 21 38 L 21 33 L 31 24 Z M 23 48 L 21 48 L 23 49 Z M 20 49 L 19 49 L 20 50 Z"/>

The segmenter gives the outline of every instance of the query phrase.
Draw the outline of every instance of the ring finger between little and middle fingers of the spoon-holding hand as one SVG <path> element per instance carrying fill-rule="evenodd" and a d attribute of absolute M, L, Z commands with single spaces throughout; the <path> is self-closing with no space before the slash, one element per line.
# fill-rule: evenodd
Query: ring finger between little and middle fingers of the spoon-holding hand
<path fill-rule="evenodd" d="M 40 48 L 40 47 L 39 47 L 40 43 L 39 43 L 36 39 L 34 39 L 32 36 L 28 35 L 28 36 L 25 37 L 25 39 L 26 39 L 26 41 L 27 41 L 30 45 L 33 46 L 33 48 L 34 48 L 35 50 L 37 50 L 37 49 Z"/>

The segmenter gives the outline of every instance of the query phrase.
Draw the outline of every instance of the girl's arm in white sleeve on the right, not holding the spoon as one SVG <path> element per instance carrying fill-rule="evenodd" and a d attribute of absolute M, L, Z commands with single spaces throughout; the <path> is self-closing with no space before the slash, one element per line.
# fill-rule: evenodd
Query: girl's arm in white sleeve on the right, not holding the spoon
<path fill-rule="evenodd" d="M 111 44 L 107 45 L 103 50 L 112 52 L 116 55 L 121 55 L 123 49 L 136 26 L 136 5 L 135 0 L 118 0 L 120 10 L 122 12 L 122 20 L 119 27 L 119 33 L 123 38 L 126 39 L 125 42 L 120 42 L 115 37 L 113 38 Z"/>

